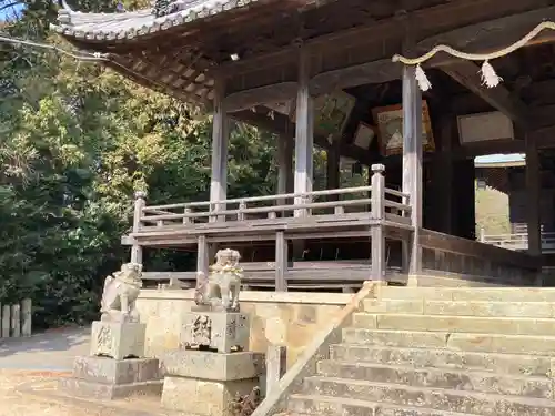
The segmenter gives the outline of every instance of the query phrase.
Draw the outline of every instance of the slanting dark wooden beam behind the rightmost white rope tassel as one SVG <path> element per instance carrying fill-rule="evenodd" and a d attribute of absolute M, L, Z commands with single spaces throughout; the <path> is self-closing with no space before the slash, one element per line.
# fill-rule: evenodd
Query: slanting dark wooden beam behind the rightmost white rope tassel
<path fill-rule="evenodd" d="M 461 61 L 441 67 L 441 69 L 493 108 L 507 115 L 515 123 L 523 128 L 529 126 L 531 119 L 526 105 L 521 100 L 512 98 L 511 92 L 503 84 L 495 88 L 484 87 L 481 81 L 480 67 L 474 62 Z"/>

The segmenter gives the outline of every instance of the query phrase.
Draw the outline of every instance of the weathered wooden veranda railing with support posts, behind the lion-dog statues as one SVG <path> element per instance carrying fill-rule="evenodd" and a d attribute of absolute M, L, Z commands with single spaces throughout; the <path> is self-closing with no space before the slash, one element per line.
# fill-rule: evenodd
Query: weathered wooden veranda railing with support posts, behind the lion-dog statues
<path fill-rule="evenodd" d="M 198 270 L 208 272 L 210 243 L 274 240 L 275 286 L 286 290 L 289 241 L 363 237 L 371 240 L 369 275 L 385 278 L 385 237 L 412 231 L 412 206 L 406 193 L 385 187 L 383 165 L 372 171 L 371 186 L 306 193 L 151 206 L 140 194 L 130 241 L 135 253 L 141 245 L 196 243 Z"/>

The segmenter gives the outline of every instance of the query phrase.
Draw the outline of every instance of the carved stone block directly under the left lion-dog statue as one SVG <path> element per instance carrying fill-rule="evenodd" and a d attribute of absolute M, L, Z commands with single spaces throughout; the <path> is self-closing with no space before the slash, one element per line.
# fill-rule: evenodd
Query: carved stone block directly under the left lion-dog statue
<path fill-rule="evenodd" d="M 114 359 L 141 358 L 144 355 L 145 324 L 93 322 L 91 355 Z"/>

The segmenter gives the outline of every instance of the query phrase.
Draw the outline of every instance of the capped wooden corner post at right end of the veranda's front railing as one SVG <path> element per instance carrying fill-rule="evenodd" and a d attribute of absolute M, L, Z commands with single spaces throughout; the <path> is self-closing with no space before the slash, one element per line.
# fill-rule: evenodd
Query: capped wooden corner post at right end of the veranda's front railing
<path fill-rule="evenodd" d="M 373 221 L 379 224 L 371 226 L 372 236 L 372 280 L 383 281 L 385 278 L 385 235 L 381 223 L 385 220 L 385 177 L 383 164 L 372 165 L 372 212 Z"/>

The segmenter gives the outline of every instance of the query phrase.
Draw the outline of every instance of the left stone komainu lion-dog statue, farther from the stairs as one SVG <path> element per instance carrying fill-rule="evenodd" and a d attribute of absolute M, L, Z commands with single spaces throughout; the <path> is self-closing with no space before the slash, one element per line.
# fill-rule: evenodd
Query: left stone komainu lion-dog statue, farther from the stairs
<path fill-rule="evenodd" d="M 127 263 L 121 266 L 121 271 L 105 278 L 100 308 L 101 321 L 139 322 L 135 301 L 142 287 L 141 276 L 141 264 Z"/>

